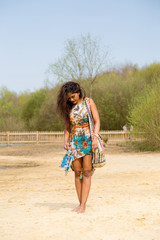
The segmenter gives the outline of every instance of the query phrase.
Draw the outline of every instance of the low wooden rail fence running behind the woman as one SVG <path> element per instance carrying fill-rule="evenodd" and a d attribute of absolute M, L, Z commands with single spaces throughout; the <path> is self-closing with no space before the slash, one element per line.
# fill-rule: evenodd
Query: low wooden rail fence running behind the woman
<path fill-rule="evenodd" d="M 101 131 L 104 140 L 108 142 L 122 142 L 129 140 L 129 134 L 123 131 Z M 139 134 L 134 134 L 134 140 L 139 139 Z M 0 132 L 0 144 L 44 144 L 63 142 L 64 132 Z"/>

